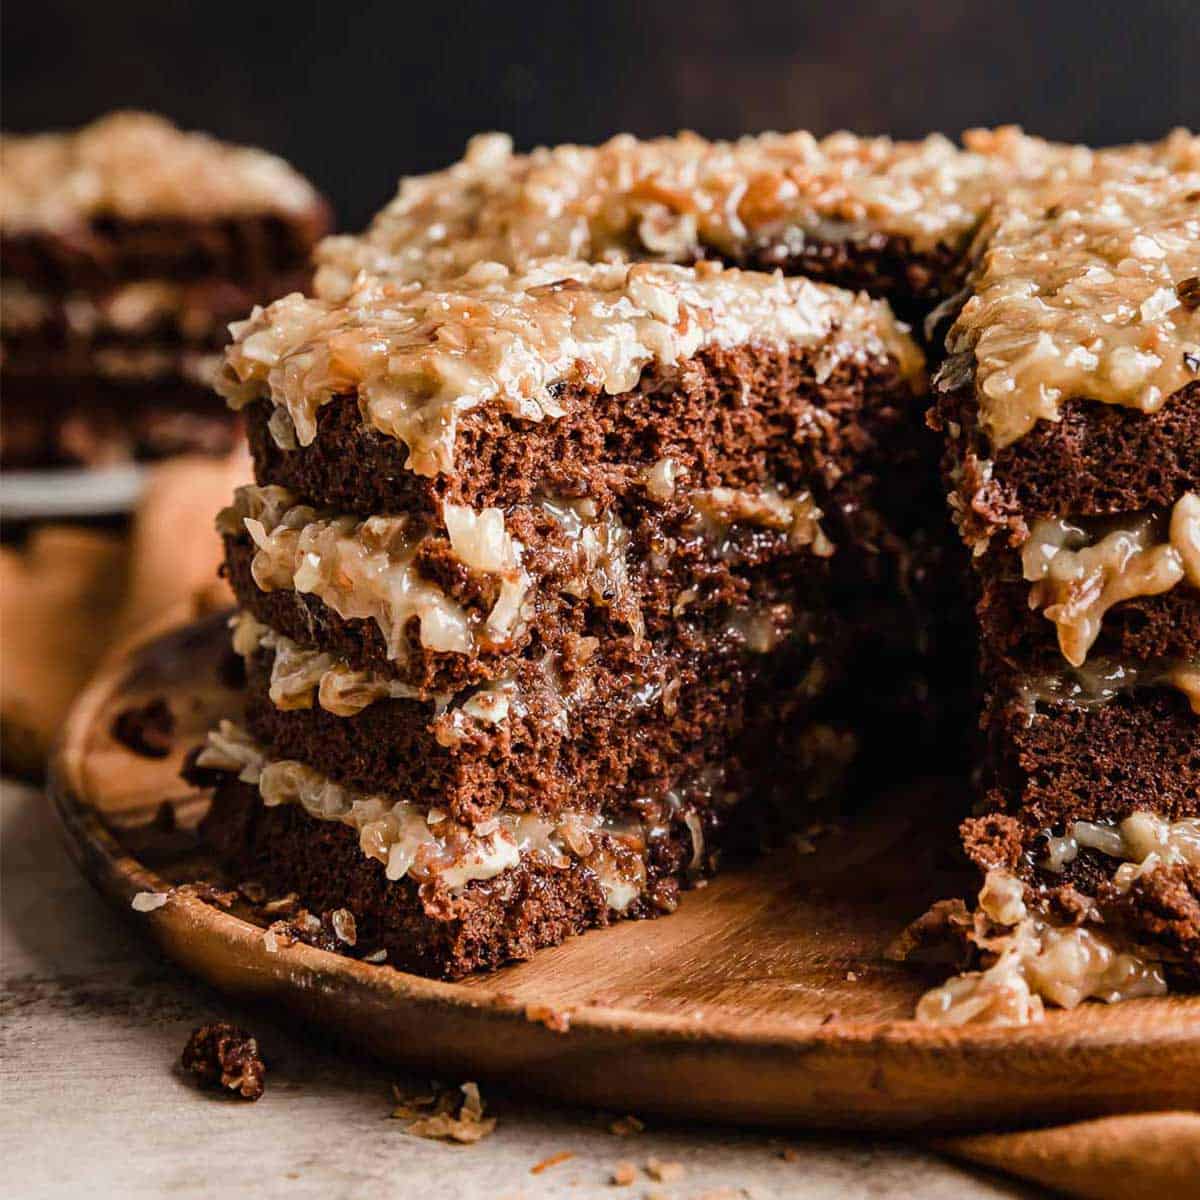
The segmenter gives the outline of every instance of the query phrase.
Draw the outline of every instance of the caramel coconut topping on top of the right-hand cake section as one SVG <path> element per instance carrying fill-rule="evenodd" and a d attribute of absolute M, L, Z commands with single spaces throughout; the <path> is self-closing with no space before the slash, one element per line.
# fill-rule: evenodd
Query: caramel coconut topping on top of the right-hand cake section
<path fill-rule="evenodd" d="M 1153 413 L 1200 379 L 1200 137 L 1159 149 L 1098 157 L 1099 178 L 989 222 L 947 346 L 997 449 L 1073 397 Z"/>

